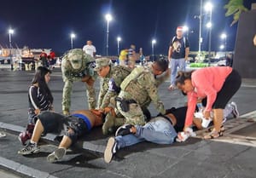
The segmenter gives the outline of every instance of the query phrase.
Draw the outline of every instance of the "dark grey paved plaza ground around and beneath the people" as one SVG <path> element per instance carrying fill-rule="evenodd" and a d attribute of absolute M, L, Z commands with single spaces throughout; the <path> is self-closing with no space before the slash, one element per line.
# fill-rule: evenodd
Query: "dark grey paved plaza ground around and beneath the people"
<path fill-rule="evenodd" d="M 0 128 L 7 133 L 0 139 L 0 165 L 22 175 L 34 177 L 255 177 L 255 94 L 256 79 L 243 79 L 241 89 L 232 98 L 241 118 L 230 119 L 224 137 L 214 141 L 190 138 L 185 143 L 156 145 L 141 143 L 119 151 L 111 164 L 105 164 L 102 152 L 108 141 L 100 128 L 93 129 L 67 152 L 60 163 L 49 164 L 46 156 L 55 149 L 54 135 L 41 141 L 41 152 L 20 156 L 22 147 L 17 134 L 27 122 L 27 89 L 33 72 L 11 72 L 0 69 Z M 183 106 L 186 98 L 178 90 L 160 86 L 160 97 L 166 108 Z M 55 97 L 55 112 L 61 112 L 63 83 L 60 69 L 55 69 L 49 87 Z M 96 83 L 96 91 L 99 84 Z M 84 97 L 81 97 L 84 96 Z M 74 83 L 72 110 L 86 109 L 83 83 Z M 154 106 L 150 106 L 153 115 Z M 199 135 L 203 133 L 198 133 Z"/>

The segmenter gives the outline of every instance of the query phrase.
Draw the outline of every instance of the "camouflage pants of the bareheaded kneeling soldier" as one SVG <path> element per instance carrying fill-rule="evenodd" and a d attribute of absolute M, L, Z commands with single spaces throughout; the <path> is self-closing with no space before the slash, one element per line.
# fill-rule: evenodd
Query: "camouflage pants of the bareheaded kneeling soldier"
<path fill-rule="evenodd" d="M 117 101 L 116 106 L 119 112 L 125 117 L 125 123 L 129 123 L 132 125 L 144 125 L 145 124 L 145 117 L 143 114 L 143 110 L 141 106 L 137 103 L 131 103 L 129 105 L 130 110 L 128 112 L 123 112 L 120 107 L 120 102 Z"/>

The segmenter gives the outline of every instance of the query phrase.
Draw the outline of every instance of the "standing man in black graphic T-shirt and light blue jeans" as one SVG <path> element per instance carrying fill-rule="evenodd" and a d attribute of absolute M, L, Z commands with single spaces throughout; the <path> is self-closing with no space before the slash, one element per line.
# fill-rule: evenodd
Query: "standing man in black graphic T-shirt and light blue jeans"
<path fill-rule="evenodd" d="M 176 36 L 172 37 L 168 52 L 168 59 L 171 65 L 171 85 L 169 89 L 175 89 L 175 77 L 177 75 L 177 66 L 180 71 L 185 71 L 186 60 L 189 57 L 189 40 L 183 37 L 183 26 L 177 26 Z"/>

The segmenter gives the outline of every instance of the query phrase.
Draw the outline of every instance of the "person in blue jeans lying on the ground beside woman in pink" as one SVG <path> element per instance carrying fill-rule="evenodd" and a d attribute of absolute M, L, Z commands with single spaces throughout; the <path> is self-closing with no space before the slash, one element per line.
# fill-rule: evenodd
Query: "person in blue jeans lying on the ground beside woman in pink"
<path fill-rule="evenodd" d="M 151 118 L 150 112 L 144 112 L 147 118 L 151 118 L 148 123 L 144 126 L 125 124 L 116 131 L 115 137 L 108 139 L 108 144 L 104 151 L 104 161 L 110 163 L 113 155 L 119 149 L 139 142 L 150 141 L 157 144 L 172 144 L 174 141 L 183 140 L 183 138 L 180 138 L 181 135 L 177 135 L 177 133 L 183 131 L 187 110 L 187 106 L 172 107 L 166 110 L 166 115 L 159 114 L 155 118 Z M 196 110 L 198 111 L 198 108 Z M 224 113 L 226 117 L 230 113 L 235 118 L 238 117 L 239 112 L 236 103 L 231 102 L 226 106 Z M 201 127 L 201 118 L 194 118 L 193 122 L 197 129 L 203 129 Z M 193 135 L 192 129 L 187 129 L 186 132 L 189 135 Z"/>

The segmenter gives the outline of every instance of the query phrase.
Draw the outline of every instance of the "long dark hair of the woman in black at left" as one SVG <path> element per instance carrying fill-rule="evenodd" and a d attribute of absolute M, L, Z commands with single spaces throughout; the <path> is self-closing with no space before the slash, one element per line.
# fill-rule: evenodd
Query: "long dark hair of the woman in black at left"
<path fill-rule="evenodd" d="M 38 66 L 37 71 L 35 72 L 34 78 L 32 79 L 32 84 L 38 83 L 38 87 L 42 91 L 44 95 L 46 95 L 47 99 L 53 103 L 53 96 L 49 90 L 47 83 L 45 82 L 44 76 L 47 73 L 51 73 L 51 71 L 45 66 Z"/>

